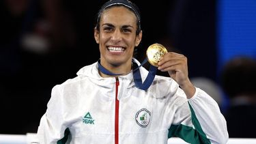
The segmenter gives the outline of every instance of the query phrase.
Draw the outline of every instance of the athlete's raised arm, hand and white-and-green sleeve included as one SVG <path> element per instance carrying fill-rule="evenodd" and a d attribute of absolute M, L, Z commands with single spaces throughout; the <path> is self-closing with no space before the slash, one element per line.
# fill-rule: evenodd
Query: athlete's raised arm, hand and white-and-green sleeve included
<path fill-rule="evenodd" d="M 188 99 L 188 103 L 182 104 L 177 110 L 178 116 L 175 118 L 175 125 L 169 130 L 169 137 L 179 136 L 189 143 L 227 143 L 225 118 L 218 104 L 207 93 L 190 83 L 186 57 L 166 53 L 158 65 L 158 70 L 169 72 L 180 86 L 177 95 L 186 95 Z"/>

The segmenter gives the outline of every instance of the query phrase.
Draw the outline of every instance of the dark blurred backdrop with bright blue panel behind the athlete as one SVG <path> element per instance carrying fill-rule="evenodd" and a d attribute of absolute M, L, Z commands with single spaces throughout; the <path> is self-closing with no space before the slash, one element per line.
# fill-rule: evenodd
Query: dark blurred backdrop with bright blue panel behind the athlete
<path fill-rule="evenodd" d="M 36 132 L 53 86 L 99 59 L 94 22 L 104 2 L 0 1 L 0 134 Z M 256 1 L 133 2 L 143 29 L 137 59 L 156 42 L 186 55 L 193 83 L 226 113 L 220 74 L 233 57 L 256 58 Z"/>

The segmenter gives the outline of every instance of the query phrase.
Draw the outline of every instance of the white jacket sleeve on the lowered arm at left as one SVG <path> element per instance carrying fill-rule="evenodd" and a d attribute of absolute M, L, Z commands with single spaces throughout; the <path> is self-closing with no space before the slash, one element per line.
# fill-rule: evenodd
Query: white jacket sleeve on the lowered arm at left
<path fill-rule="evenodd" d="M 57 85 L 53 87 L 46 113 L 40 119 L 37 132 L 39 143 L 66 143 L 69 130 L 63 120 L 63 110 L 63 95 Z"/>

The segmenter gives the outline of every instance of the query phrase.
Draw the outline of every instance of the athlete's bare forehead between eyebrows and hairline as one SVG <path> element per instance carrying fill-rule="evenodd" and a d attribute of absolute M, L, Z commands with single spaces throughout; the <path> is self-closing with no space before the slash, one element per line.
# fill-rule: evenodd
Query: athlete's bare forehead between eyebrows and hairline
<path fill-rule="evenodd" d="M 126 25 L 136 25 L 137 17 L 134 12 L 124 6 L 113 6 L 102 12 L 100 21 L 102 23 L 113 23 L 118 21 L 119 23 L 126 23 Z"/>

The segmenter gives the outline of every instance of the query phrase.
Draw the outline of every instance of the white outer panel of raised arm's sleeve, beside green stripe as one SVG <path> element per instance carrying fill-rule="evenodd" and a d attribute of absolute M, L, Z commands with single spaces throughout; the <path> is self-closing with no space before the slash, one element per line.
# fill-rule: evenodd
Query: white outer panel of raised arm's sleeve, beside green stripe
<path fill-rule="evenodd" d="M 192 117 L 195 114 L 195 118 L 210 142 L 227 143 L 229 139 L 227 124 L 217 102 L 199 88 L 196 88 L 195 95 L 188 99 L 188 102 Z"/>

